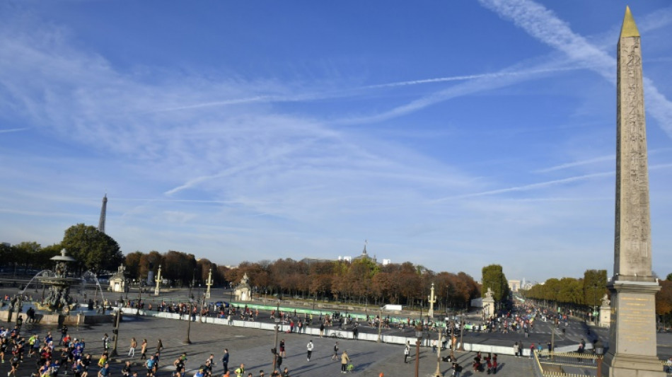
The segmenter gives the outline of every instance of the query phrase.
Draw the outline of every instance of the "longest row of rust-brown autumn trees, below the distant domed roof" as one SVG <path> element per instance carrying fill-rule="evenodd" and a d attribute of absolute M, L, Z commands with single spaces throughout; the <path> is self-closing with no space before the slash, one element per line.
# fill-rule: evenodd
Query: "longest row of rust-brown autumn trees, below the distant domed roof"
<path fill-rule="evenodd" d="M 434 272 L 411 262 L 379 265 L 369 258 L 243 262 L 226 272 L 239 282 L 247 274 L 257 294 L 329 299 L 351 303 L 425 306 L 434 283 L 437 310 L 466 308 L 480 286 L 465 272 Z"/>

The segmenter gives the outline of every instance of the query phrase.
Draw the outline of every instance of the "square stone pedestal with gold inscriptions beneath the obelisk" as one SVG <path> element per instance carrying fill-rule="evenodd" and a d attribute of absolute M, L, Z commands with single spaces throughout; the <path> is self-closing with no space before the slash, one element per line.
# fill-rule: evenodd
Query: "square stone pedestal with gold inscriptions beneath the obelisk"
<path fill-rule="evenodd" d="M 603 376 L 663 377 L 656 352 L 656 282 L 622 282 L 611 291 L 611 328 Z"/>

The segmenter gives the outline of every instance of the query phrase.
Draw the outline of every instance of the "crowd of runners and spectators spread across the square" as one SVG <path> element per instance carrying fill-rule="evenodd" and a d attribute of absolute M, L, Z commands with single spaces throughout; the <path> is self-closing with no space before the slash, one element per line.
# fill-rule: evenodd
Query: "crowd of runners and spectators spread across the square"
<path fill-rule="evenodd" d="M 220 304 L 206 304 L 200 308 L 189 302 L 171 302 L 161 301 L 159 303 L 144 303 L 143 301 L 117 301 L 115 303 L 105 302 L 104 306 L 110 304 L 145 308 L 149 311 L 164 311 L 168 313 L 180 313 L 181 315 L 190 315 L 191 320 L 196 320 L 197 315 L 216 316 L 219 318 L 228 318 L 229 322 L 233 318 L 240 318 L 241 320 L 258 320 L 260 312 L 257 308 L 248 308 L 248 306 L 228 306 L 225 303 Z M 108 308 L 108 309 L 111 309 Z M 268 313 L 267 313 L 268 314 Z M 532 312 L 525 309 L 519 310 L 518 314 L 499 313 L 498 315 L 487 318 L 482 325 L 482 328 L 487 331 L 499 332 L 525 332 L 534 328 L 534 320 L 539 315 L 548 315 L 551 313 L 543 313 L 541 311 Z M 288 332 L 302 333 L 306 332 L 306 327 L 314 326 L 320 328 L 320 335 L 324 334 L 325 327 L 338 326 L 339 329 L 348 327 L 352 330 L 354 338 L 357 339 L 357 332 L 359 332 L 360 318 L 351 316 L 348 313 L 333 312 L 328 314 L 313 315 L 310 313 L 293 313 L 291 311 L 270 311 L 272 318 L 280 318 L 283 323 L 289 324 Z M 557 323 L 567 320 L 562 316 L 556 318 Z M 315 322 L 316 321 L 316 322 Z M 422 325 L 423 342 L 425 347 L 431 347 L 433 352 L 436 352 L 437 347 L 445 349 L 451 347 L 453 342 L 457 341 L 457 336 L 462 330 L 475 331 L 475 327 L 471 323 L 463 323 L 460 330 L 460 323 L 439 323 L 427 321 L 425 323 L 416 322 L 407 318 L 405 320 L 392 321 L 390 318 L 381 318 L 378 315 L 366 315 L 362 318 L 361 325 L 369 325 L 371 327 L 389 327 L 390 325 L 398 325 L 400 327 L 411 327 L 416 330 Z M 441 327 L 441 336 L 431 336 L 431 332 L 436 332 Z M 444 330 L 444 328 L 446 330 Z M 28 340 L 25 339 L 28 337 Z M 103 351 L 96 356 L 86 349 L 86 342 L 83 339 L 75 339 L 68 333 L 66 326 L 59 329 L 57 336 L 52 336 L 51 332 L 37 335 L 36 333 L 30 335 L 21 334 L 21 322 L 17 321 L 17 325 L 12 329 L 5 329 L 0 327 L 0 359 L 2 362 L 9 359 L 11 370 L 8 376 L 28 376 L 25 371 L 29 371 L 31 376 L 37 377 L 56 377 L 58 375 L 72 374 L 75 377 L 108 377 L 110 376 L 110 355 L 109 348 L 112 338 L 105 334 L 102 338 Z M 306 343 L 306 362 L 311 362 L 311 356 L 315 345 L 313 340 L 308 340 Z M 535 347 L 532 345 L 531 347 Z M 128 342 L 127 360 L 124 361 L 121 373 L 123 377 L 156 377 L 160 366 L 163 366 L 162 371 L 170 370 L 171 376 L 183 377 L 188 370 L 194 371 L 194 377 L 256 377 L 266 376 L 264 371 L 258 371 L 258 374 L 245 369 L 245 364 L 236 364 L 235 367 L 229 369 L 229 360 L 231 354 L 228 349 L 223 349 L 221 358 L 216 358 L 214 354 L 210 354 L 204 361 L 196 361 L 193 364 L 187 359 L 187 353 L 180 354 L 176 359 L 166 361 L 161 354 L 163 350 L 163 343 L 157 340 L 156 349 L 150 350 L 149 342 L 146 339 L 136 339 L 132 337 Z M 272 350 L 274 354 L 274 367 L 268 376 L 272 377 L 289 377 L 290 371 L 286 366 L 282 366 L 283 359 L 286 355 L 286 343 L 281 340 L 279 349 Z M 516 356 L 522 356 L 523 344 L 516 342 L 514 345 L 514 353 Z M 404 349 L 404 361 L 407 362 L 410 356 L 409 344 L 406 344 Z M 34 359 L 35 364 L 24 363 L 25 359 Z M 347 373 L 351 371 L 352 361 L 345 350 L 339 349 L 338 342 L 333 347 L 332 361 L 340 361 L 341 372 Z M 444 361 L 452 364 L 452 375 L 460 376 L 462 366 L 458 364 L 456 359 L 445 359 Z M 215 368 L 217 364 L 221 363 L 220 369 Z M 487 354 L 482 356 L 479 353 L 474 357 L 472 368 L 474 372 L 497 373 L 498 370 L 497 354 Z M 21 369 L 21 372 L 17 372 Z M 162 372 L 163 373 L 163 372 Z M 168 376 L 166 374 L 166 376 Z"/>

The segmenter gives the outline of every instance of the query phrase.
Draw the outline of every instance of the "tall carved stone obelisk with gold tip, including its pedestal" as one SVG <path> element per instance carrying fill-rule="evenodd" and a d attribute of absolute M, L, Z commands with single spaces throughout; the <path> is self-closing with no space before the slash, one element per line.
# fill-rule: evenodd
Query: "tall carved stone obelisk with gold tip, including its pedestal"
<path fill-rule="evenodd" d="M 620 31 L 616 79 L 616 217 L 609 348 L 603 376 L 666 376 L 656 356 L 656 292 L 642 51 L 630 8 Z"/>

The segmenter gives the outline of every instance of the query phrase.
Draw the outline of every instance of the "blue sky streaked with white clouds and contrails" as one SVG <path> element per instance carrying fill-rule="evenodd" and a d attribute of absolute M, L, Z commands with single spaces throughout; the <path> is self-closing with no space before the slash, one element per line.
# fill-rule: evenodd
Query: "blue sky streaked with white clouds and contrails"
<path fill-rule="evenodd" d="M 1 1 L 0 241 L 613 272 L 624 1 Z M 672 6 L 633 4 L 672 272 Z"/>

